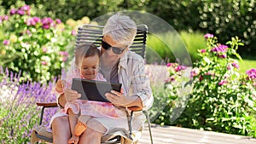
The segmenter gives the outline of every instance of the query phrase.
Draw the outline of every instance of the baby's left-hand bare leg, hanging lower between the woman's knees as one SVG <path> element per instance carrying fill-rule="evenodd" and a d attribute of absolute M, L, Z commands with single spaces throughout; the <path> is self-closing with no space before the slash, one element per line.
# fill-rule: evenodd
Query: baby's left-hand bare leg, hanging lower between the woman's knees
<path fill-rule="evenodd" d="M 78 116 L 73 113 L 73 111 L 69 108 L 67 110 L 69 117 L 69 124 L 72 137 L 69 139 L 68 143 L 79 143 L 79 136 L 75 135 L 75 125 L 78 123 Z"/>

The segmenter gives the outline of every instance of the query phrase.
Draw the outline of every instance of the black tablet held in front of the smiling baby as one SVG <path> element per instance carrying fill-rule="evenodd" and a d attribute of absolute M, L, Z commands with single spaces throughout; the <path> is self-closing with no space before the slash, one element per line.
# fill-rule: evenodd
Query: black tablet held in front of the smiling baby
<path fill-rule="evenodd" d="M 81 94 L 81 100 L 110 102 L 105 97 L 105 93 L 111 90 L 120 92 L 121 86 L 122 84 L 119 83 L 73 78 L 71 89 Z"/>

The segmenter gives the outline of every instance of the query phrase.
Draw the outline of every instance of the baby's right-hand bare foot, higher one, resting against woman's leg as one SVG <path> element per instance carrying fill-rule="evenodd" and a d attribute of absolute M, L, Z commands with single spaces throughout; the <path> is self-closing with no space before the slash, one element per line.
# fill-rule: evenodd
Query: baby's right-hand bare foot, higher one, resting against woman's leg
<path fill-rule="evenodd" d="M 82 135 L 82 133 L 86 130 L 87 128 L 87 121 L 90 119 L 90 116 L 85 116 L 82 115 L 79 117 L 78 124 L 76 124 L 74 128 L 74 135 Z"/>

